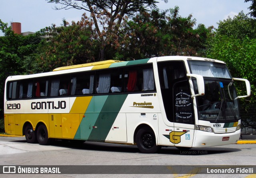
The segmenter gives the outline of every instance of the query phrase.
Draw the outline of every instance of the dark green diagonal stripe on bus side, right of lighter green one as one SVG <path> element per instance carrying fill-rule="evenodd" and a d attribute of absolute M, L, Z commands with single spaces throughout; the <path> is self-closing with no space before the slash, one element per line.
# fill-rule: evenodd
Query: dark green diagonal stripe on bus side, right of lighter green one
<path fill-rule="evenodd" d="M 108 96 L 95 123 L 97 128 L 92 129 L 88 140 L 106 140 L 106 137 L 116 120 L 116 116 L 122 108 L 127 96 L 127 94 Z"/>

